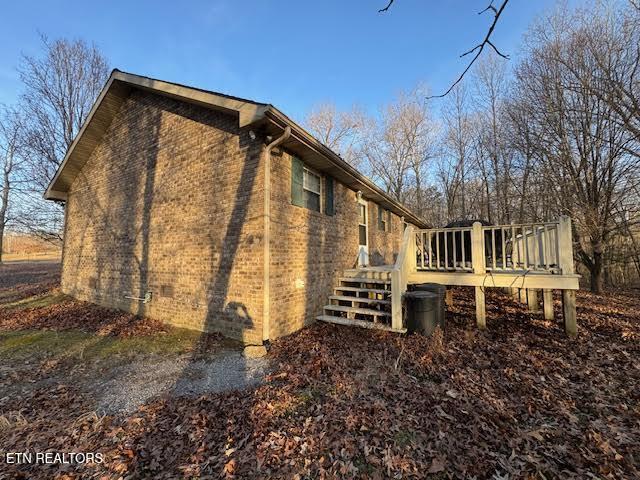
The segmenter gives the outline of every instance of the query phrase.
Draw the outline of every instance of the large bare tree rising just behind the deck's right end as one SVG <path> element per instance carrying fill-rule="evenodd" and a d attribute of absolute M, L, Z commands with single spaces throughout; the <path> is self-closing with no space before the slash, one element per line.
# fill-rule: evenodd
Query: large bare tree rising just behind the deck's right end
<path fill-rule="evenodd" d="M 610 102 L 594 94 L 599 68 L 584 45 L 602 30 L 586 18 L 560 10 L 532 29 L 517 90 L 533 114 L 544 174 L 553 179 L 546 194 L 558 212 L 573 217 L 575 251 L 592 291 L 600 292 L 606 248 L 619 232 L 615 212 L 635 187 L 638 138 Z"/>

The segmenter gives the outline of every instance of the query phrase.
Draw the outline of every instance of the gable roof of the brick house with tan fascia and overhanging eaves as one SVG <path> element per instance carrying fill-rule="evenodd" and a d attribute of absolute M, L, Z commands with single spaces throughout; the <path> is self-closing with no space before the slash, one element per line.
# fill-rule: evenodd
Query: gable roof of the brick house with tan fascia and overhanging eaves
<path fill-rule="evenodd" d="M 95 104 L 75 140 L 69 147 L 58 171 L 47 187 L 44 197 L 49 200 L 66 200 L 67 192 L 102 136 L 109 128 L 124 100 L 133 89 L 174 98 L 206 108 L 238 116 L 240 127 L 260 126 L 268 135 L 279 136 L 286 127 L 291 135 L 281 146 L 299 155 L 315 169 L 331 175 L 348 187 L 362 191 L 363 196 L 391 210 L 418 227 L 426 222 L 407 207 L 394 200 L 372 180 L 345 162 L 329 147 L 319 142 L 309 132 L 287 117 L 273 105 L 234 97 L 200 88 L 165 82 L 154 78 L 114 70 L 100 92 Z"/>

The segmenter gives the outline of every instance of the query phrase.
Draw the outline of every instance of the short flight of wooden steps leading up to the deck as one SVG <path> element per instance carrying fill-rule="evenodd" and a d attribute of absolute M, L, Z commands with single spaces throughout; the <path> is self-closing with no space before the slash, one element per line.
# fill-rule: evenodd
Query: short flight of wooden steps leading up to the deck
<path fill-rule="evenodd" d="M 345 270 L 340 285 L 318 320 L 394 332 L 391 327 L 391 269 L 367 267 Z"/>

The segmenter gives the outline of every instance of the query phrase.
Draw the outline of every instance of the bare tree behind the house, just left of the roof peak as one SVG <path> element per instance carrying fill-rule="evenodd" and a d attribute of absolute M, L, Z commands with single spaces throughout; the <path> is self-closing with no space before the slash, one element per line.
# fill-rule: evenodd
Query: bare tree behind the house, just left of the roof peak
<path fill-rule="evenodd" d="M 89 114 L 109 66 L 97 47 L 83 40 L 50 41 L 42 36 L 42 46 L 42 55 L 24 55 L 19 67 L 32 185 L 32 195 L 22 202 L 20 221 L 32 233 L 60 238 L 62 209 L 44 202 L 42 192 Z"/>

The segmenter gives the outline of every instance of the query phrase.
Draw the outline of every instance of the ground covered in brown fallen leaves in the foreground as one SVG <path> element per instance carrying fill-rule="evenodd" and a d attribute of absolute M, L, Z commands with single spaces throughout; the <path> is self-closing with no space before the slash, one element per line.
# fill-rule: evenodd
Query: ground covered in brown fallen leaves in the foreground
<path fill-rule="evenodd" d="M 274 342 L 263 385 L 167 394 L 133 414 L 95 411 L 74 384 L 81 360 L 62 362 L 67 381 L 0 398 L 1 448 L 101 452 L 105 462 L 0 469 L 10 478 L 640 477 L 640 291 L 580 292 L 574 340 L 497 292 L 480 332 L 471 293 L 456 291 L 444 334 L 313 325 Z"/>

